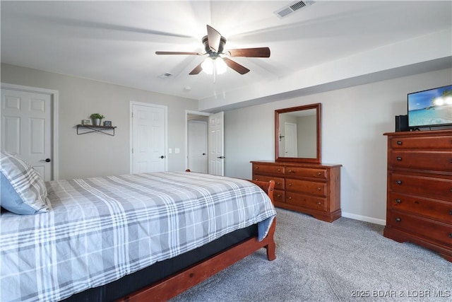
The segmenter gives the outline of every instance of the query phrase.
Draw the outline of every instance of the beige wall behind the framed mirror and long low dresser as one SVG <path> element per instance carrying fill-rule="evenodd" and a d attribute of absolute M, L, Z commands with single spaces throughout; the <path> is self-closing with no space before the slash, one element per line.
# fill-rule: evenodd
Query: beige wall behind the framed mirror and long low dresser
<path fill-rule="evenodd" d="M 322 161 L 340 163 L 343 216 L 386 220 L 386 137 L 407 94 L 452 83 L 452 70 L 417 74 L 225 112 L 225 174 L 251 178 L 251 163 L 273 160 L 274 110 L 322 103 Z"/>

